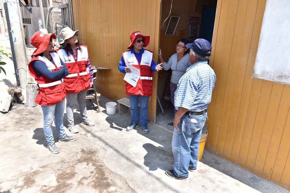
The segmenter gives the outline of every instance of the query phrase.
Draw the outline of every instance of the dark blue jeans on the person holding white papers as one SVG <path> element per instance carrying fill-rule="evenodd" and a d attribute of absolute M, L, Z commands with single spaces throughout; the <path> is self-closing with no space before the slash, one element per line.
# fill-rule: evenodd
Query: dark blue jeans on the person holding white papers
<path fill-rule="evenodd" d="M 140 100 L 140 124 L 148 124 L 148 96 L 139 95 L 128 95 L 130 100 L 130 111 L 131 111 L 131 123 L 138 124 L 138 104 Z"/>

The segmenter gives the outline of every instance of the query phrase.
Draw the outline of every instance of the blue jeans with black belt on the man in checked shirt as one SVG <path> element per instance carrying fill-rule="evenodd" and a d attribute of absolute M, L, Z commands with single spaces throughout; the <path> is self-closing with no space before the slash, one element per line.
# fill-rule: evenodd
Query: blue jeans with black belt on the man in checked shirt
<path fill-rule="evenodd" d="M 183 115 L 180 124 L 177 125 L 179 130 L 174 129 L 173 131 L 173 169 L 174 174 L 178 177 L 187 178 L 188 168 L 196 169 L 199 142 L 206 116 L 207 113 L 203 115 Z"/>

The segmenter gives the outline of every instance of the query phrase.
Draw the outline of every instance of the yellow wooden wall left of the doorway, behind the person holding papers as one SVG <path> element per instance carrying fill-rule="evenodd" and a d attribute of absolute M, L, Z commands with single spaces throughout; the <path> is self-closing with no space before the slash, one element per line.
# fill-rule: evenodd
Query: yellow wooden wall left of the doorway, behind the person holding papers
<path fill-rule="evenodd" d="M 150 36 L 145 49 L 153 51 L 157 61 L 160 0 L 73 0 L 75 30 L 79 40 L 88 46 L 92 65 L 110 68 L 99 69 L 97 87 L 102 96 L 117 101 L 125 93 L 124 73 L 118 69 L 122 52 L 131 43 L 130 35 L 140 31 Z M 156 96 L 157 72 L 153 73 L 153 93 Z M 148 119 L 155 122 L 156 97 L 149 98 Z"/>

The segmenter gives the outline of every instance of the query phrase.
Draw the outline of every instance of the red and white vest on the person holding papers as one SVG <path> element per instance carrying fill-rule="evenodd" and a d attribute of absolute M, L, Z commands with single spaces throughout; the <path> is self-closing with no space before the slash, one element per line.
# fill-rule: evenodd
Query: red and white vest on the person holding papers
<path fill-rule="evenodd" d="M 151 70 L 151 65 L 153 61 L 153 52 L 144 49 L 144 53 L 141 56 L 140 63 L 138 62 L 134 53 L 131 50 L 123 53 L 124 61 L 127 64 L 133 65 L 140 70 L 140 78 L 137 82 L 136 87 L 125 81 L 126 85 L 126 95 L 139 95 L 141 96 L 151 96 L 152 95 L 152 77 L 153 72 Z"/>

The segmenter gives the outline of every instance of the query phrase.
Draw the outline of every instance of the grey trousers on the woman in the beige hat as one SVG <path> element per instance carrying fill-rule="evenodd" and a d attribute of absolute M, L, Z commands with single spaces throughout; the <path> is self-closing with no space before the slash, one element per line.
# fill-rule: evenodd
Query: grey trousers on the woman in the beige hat
<path fill-rule="evenodd" d="M 66 116 L 68 117 L 68 126 L 74 125 L 73 106 L 75 105 L 75 96 L 77 95 L 77 102 L 79 103 L 79 112 L 81 113 L 81 120 L 88 120 L 87 106 L 86 106 L 87 90 L 79 91 L 78 93 L 66 93 Z"/>

